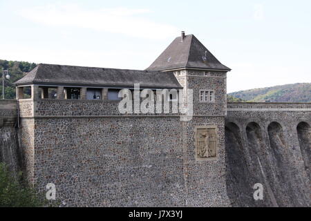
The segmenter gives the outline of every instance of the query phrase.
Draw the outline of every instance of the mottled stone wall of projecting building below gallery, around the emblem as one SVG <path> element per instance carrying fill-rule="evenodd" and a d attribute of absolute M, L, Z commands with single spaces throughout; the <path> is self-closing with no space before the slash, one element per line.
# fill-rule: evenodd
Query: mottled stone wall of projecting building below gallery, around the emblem
<path fill-rule="evenodd" d="M 67 206 L 229 206 L 225 117 L 120 115 L 118 102 L 19 100 L 28 180 Z M 212 110 L 211 110 L 212 111 Z M 218 159 L 196 161 L 194 127 L 216 125 Z"/>

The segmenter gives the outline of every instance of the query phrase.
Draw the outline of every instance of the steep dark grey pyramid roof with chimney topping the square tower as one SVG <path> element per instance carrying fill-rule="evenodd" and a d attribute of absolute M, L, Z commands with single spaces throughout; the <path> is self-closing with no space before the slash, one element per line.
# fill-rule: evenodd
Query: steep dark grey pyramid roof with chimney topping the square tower
<path fill-rule="evenodd" d="M 146 70 L 176 68 L 231 70 L 221 64 L 194 35 L 185 35 L 182 41 L 181 37 L 176 37 Z"/>

